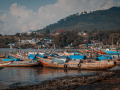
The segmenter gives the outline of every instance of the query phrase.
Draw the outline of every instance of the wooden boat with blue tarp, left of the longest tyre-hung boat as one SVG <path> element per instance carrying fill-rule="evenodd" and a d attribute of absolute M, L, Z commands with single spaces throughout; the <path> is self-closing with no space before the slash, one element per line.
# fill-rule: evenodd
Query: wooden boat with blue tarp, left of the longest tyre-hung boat
<path fill-rule="evenodd" d="M 12 63 L 10 63 L 8 66 L 17 66 L 17 67 L 26 67 L 26 66 L 36 66 L 40 65 L 40 62 L 38 60 L 21 60 L 19 58 L 13 58 L 9 57 L 7 59 L 3 59 L 3 61 L 11 61 L 13 60 Z"/>

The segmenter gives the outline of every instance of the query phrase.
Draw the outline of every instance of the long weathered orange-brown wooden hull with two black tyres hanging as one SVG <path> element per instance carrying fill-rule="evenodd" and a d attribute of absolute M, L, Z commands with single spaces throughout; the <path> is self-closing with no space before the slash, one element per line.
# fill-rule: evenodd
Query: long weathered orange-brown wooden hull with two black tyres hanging
<path fill-rule="evenodd" d="M 74 63 L 73 62 L 59 63 L 45 59 L 40 59 L 40 61 L 44 67 L 62 68 L 62 69 L 103 70 L 115 66 L 115 63 L 112 60 L 90 61 L 90 62 L 79 62 L 73 60 Z"/>

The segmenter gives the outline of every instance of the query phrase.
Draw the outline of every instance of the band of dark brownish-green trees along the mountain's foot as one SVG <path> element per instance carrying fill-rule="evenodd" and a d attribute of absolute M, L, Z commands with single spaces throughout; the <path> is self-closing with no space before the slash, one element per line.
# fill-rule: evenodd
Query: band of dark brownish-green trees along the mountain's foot
<path fill-rule="evenodd" d="M 53 44 L 50 46 L 52 47 L 53 45 L 56 46 L 56 48 L 63 48 L 68 45 L 72 45 L 73 47 L 79 46 L 80 44 L 88 44 L 91 43 L 91 40 L 98 40 L 102 42 L 103 44 L 112 44 L 112 38 L 113 38 L 113 44 L 120 43 L 120 29 L 117 30 L 91 30 L 87 31 L 87 35 L 78 35 L 78 31 L 66 31 L 65 33 L 60 33 L 59 35 L 51 35 L 51 34 L 34 34 L 32 33 L 31 35 L 5 35 L 5 36 L 0 36 L 0 47 L 6 47 L 9 43 L 15 43 L 18 40 L 27 40 L 27 39 L 33 39 L 33 38 L 38 38 L 42 40 L 37 43 L 43 44 L 44 43 L 44 38 L 50 37 L 50 39 L 53 39 Z M 84 42 L 86 40 L 86 42 Z M 26 45 L 27 47 L 34 47 L 34 45 Z M 24 47 L 26 47 L 24 46 Z"/>

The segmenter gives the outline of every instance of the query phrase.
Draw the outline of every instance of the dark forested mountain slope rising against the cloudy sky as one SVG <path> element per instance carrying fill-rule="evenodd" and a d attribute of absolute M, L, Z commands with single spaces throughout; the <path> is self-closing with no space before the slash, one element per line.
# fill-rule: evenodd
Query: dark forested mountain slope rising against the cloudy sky
<path fill-rule="evenodd" d="M 50 24 L 46 28 L 37 30 L 44 32 L 49 29 L 50 32 L 62 30 L 112 30 L 120 28 L 120 7 L 112 7 L 107 10 L 97 10 L 90 13 L 86 11 L 81 14 L 73 14 L 57 23 Z"/>

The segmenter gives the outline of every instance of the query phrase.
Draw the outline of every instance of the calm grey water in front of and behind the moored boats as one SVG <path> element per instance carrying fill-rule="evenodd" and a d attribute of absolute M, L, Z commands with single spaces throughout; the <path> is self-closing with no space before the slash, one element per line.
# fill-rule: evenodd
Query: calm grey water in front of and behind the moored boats
<path fill-rule="evenodd" d="M 23 49 L 25 52 L 32 49 Z M 40 51 L 43 51 L 41 49 Z M 15 52 L 16 49 L 0 49 L 0 54 Z M 33 51 L 33 50 L 32 50 Z M 37 51 L 37 49 L 34 51 Z M 116 66 L 113 69 L 120 69 Z M 16 86 L 25 86 L 32 84 L 40 84 L 44 80 L 54 79 L 57 77 L 71 76 L 71 75 L 88 75 L 94 74 L 98 71 L 84 71 L 84 70 L 60 70 L 45 67 L 5 67 L 0 70 L 0 90 Z"/>

